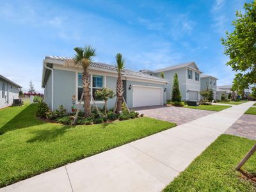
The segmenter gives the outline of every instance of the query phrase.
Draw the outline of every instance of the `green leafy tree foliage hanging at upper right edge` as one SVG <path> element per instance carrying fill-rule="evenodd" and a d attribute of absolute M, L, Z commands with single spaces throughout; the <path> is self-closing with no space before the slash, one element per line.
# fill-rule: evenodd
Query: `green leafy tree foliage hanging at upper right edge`
<path fill-rule="evenodd" d="M 234 81 L 239 90 L 256 83 L 256 6 L 255 1 L 244 4 L 244 12 L 236 12 L 232 22 L 234 31 L 221 38 L 225 54 L 230 60 L 227 65 L 238 72 Z"/>

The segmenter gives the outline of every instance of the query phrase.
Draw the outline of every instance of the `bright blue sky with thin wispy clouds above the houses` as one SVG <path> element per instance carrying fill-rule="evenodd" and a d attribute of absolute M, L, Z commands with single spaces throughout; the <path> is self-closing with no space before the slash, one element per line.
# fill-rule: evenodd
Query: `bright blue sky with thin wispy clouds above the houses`
<path fill-rule="evenodd" d="M 195 61 L 200 70 L 230 84 L 220 38 L 231 31 L 246 1 L 1 1 L 0 74 L 28 89 L 42 90 L 42 60 L 74 56 L 92 45 L 94 61 L 154 70 Z"/>

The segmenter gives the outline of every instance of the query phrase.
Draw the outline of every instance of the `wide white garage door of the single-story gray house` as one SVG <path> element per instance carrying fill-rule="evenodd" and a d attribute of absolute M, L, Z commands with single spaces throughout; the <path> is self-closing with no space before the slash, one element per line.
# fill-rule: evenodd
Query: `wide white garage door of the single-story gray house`
<path fill-rule="evenodd" d="M 132 86 L 132 106 L 134 108 L 162 105 L 162 98 L 162 88 Z"/>

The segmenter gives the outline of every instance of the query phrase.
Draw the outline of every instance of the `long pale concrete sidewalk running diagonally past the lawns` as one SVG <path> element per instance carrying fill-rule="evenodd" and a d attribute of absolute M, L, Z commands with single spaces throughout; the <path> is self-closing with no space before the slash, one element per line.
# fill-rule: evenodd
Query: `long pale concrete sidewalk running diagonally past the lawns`
<path fill-rule="evenodd" d="M 161 191 L 253 103 L 198 118 L 0 191 Z"/>

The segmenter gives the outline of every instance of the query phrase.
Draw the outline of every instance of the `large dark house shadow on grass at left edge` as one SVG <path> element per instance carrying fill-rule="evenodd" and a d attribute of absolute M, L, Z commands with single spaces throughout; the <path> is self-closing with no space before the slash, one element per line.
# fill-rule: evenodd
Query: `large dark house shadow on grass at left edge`
<path fill-rule="evenodd" d="M 36 118 L 36 108 L 36 104 L 31 104 L 24 110 L 20 111 L 19 114 L 14 116 L 10 121 L 8 121 L 5 125 L 3 125 L 3 127 L 0 128 L 0 134 L 4 134 L 8 131 L 14 131 L 16 129 L 45 124 L 45 122 Z"/>

